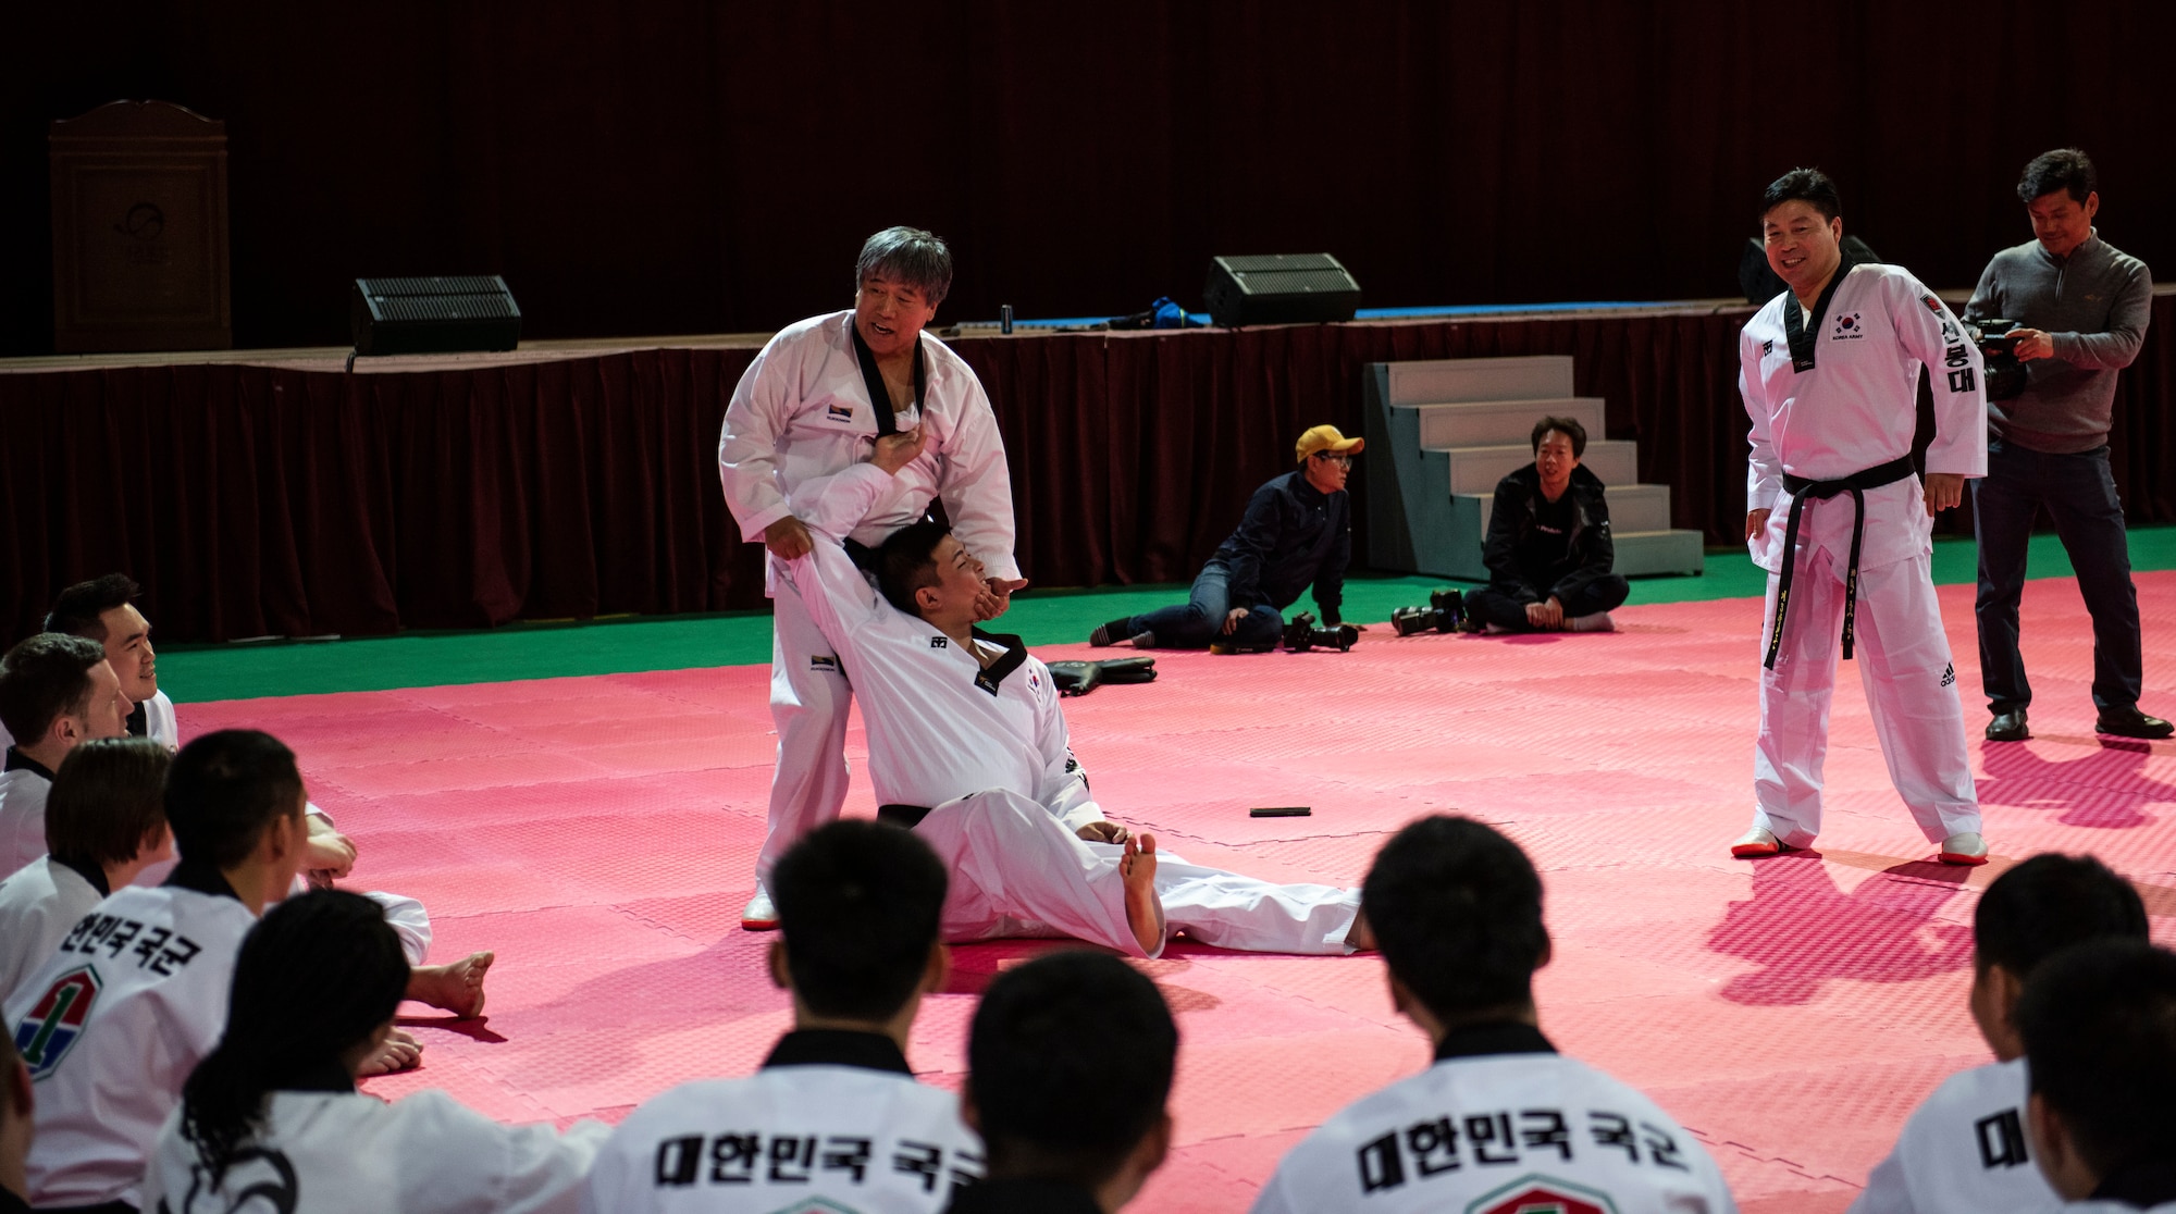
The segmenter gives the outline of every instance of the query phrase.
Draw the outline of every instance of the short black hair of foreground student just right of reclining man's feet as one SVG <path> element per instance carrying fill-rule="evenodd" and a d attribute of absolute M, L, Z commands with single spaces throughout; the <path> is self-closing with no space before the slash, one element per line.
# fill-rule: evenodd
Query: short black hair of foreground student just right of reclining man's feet
<path fill-rule="evenodd" d="M 1438 1020 L 1534 999 L 1547 957 L 1541 875 L 1495 827 L 1432 816 L 1382 844 L 1360 905 L 1390 973 Z"/>

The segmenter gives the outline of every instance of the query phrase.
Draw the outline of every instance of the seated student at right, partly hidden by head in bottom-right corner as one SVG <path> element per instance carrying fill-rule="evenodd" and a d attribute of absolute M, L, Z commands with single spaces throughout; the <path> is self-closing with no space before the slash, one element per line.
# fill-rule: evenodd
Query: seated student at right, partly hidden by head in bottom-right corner
<path fill-rule="evenodd" d="M 1995 1062 L 1945 1079 L 1904 1123 L 1852 1214 L 2052 1214 L 2026 1142 L 2026 1044 L 2017 996 L 2039 964 L 2087 940 L 2146 940 L 2139 892 L 2089 855 L 2035 855 L 1971 912 L 1971 1018 Z"/>

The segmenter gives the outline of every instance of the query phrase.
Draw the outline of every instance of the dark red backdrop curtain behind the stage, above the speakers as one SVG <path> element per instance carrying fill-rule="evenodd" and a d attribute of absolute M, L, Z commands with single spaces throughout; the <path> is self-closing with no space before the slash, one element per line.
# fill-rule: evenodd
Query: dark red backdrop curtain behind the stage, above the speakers
<path fill-rule="evenodd" d="M 770 333 L 888 224 L 944 320 L 1199 300 L 1330 250 L 1373 307 L 1736 292 L 1760 187 L 1817 163 L 1934 287 L 2030 237 L 2032 154 L 2176 265 L 2161 0 L 26 2 L 0 13 L 0 355 L 52 339 L 46 124 L 226 122 L 235 339 L 346 342 L 348 281 L 505 274 L 529 337 Z"/>

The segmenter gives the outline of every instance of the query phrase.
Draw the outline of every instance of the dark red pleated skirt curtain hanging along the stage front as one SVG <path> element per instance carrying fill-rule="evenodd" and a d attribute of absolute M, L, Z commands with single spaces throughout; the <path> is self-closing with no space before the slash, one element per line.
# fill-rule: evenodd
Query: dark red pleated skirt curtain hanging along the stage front
<path fill-rule="evenodd" d="M 1669 315 L 981 337 L 1021 563 L 1047 587 L 1186 581 L 1301 429 L 1362 431 L 1362 368 L 1573 355 L 1678 527 L 1745 518 L 1736 331 Z M 753 350 L 331 374 L 157 366 L 0 374 L 0 590 L 11 637 L 52 594 L 126 570 L 161 635 L 387 633 L 762 607 L 718 490 Z M 2154 298 L 2113 435 L 2135 522 L 2176 520 L 2176 296 Z M 1367 500 L 1367 459 L 1356 498 Z M 1364 531 L 1367 513 L 1358 527 Z M 1364 535 L 1358 550 L 1367 550 Z"/>

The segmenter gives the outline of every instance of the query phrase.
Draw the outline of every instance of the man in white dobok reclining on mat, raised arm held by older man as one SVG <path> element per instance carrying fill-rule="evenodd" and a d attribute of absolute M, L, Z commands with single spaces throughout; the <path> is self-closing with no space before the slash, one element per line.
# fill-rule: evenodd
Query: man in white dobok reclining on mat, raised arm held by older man
<path fill-rule="evenodd" d="M 816 535 L 781 570 L 862 696 L 868 779 L 883 818 L 951 868 L 947 940 L 1073 936 L 1138 957 L 1171 931 L 1262 953 L 1367 946 L 1360 892 L 1275 885 L 1155 855 L 1103 818 L 1073 757 L 1058 687 L 1021 637 L 975 629 L 984 566 L 944 527 L 903 527 L 877 550 L 881 594 L 840 537 L 881 509 L 920 431 L 879 437 L 870 463 L 807 481 L 794 513 Z"/>

